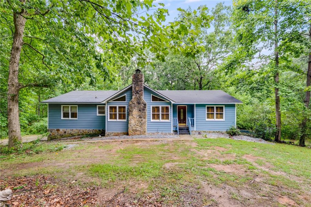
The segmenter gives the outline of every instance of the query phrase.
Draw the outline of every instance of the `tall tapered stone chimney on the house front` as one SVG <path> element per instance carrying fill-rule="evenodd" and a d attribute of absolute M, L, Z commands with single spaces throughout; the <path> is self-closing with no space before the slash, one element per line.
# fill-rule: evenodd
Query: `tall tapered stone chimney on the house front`
<path fill-rule="evenodd" d="M 144 75 L 137 69 L 132 76 L 132 100 L 128 103 L 128 135 L 147 132 L 147 104 L 144 100 Z"/>

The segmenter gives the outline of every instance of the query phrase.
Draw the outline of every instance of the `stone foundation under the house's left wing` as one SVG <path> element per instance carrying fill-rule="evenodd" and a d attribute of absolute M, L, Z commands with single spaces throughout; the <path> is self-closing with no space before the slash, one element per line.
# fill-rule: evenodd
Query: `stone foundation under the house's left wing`
<path fill-rule="evenodd" d="M 105 130 L 101 129 L 48 129 L 48 132 L 50 133 L 48 140 L 81 135 L 105 134 Z"/>

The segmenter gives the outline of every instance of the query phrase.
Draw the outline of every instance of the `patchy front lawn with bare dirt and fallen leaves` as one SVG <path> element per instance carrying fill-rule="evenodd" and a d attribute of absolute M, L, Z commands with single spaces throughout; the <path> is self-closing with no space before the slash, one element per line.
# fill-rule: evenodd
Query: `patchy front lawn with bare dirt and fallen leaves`
<path fill-rule="evenodd" d="M 9 187 L 14 193 L 8 203 L 311 206 L 308 148 L 222 138 L 96 142 L 70 147 L 4 156 L 1 190 Z"/>

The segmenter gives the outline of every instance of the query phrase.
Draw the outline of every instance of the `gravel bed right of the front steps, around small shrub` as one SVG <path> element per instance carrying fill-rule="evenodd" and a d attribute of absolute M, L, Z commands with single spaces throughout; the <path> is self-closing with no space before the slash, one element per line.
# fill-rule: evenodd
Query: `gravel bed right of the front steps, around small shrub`
<path fill-rule="evenodd" d="M 206 134 L 206 136 L 205 136 Z M 228 138 L 228 139 L 235 139 L 235 140 L 244 140 L 248 142 L 258 142 L 258 143 L 265 143 L 265 144 L 274 144 L 272 142 L 268 142 L 266 140 L 245 136 L 245 135 L 235 135 L 235 136 L 229 136 L 229 134 L 223 133 L 223 132 L 203 132 L 202 134 L 196 134 L 193 135 L 196 138 Z"/>

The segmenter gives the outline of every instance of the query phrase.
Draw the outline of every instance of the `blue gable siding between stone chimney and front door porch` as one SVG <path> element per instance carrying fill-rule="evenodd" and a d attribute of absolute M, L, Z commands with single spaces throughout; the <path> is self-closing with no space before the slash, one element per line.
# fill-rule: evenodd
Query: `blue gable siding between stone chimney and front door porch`
<path fill-rule="evenodd" d="M 148 133 L 172 133 L 172 107 L 171 102 L 151 102 L 151 94 L 165 99 L 163 96 L 151 91 L 144 87 L 144 100 L 147 103 L 147 132 Z M 169 106 L 170 107 L 170 120 L 169 121 L 151 121 L 151 106 Z"/>

